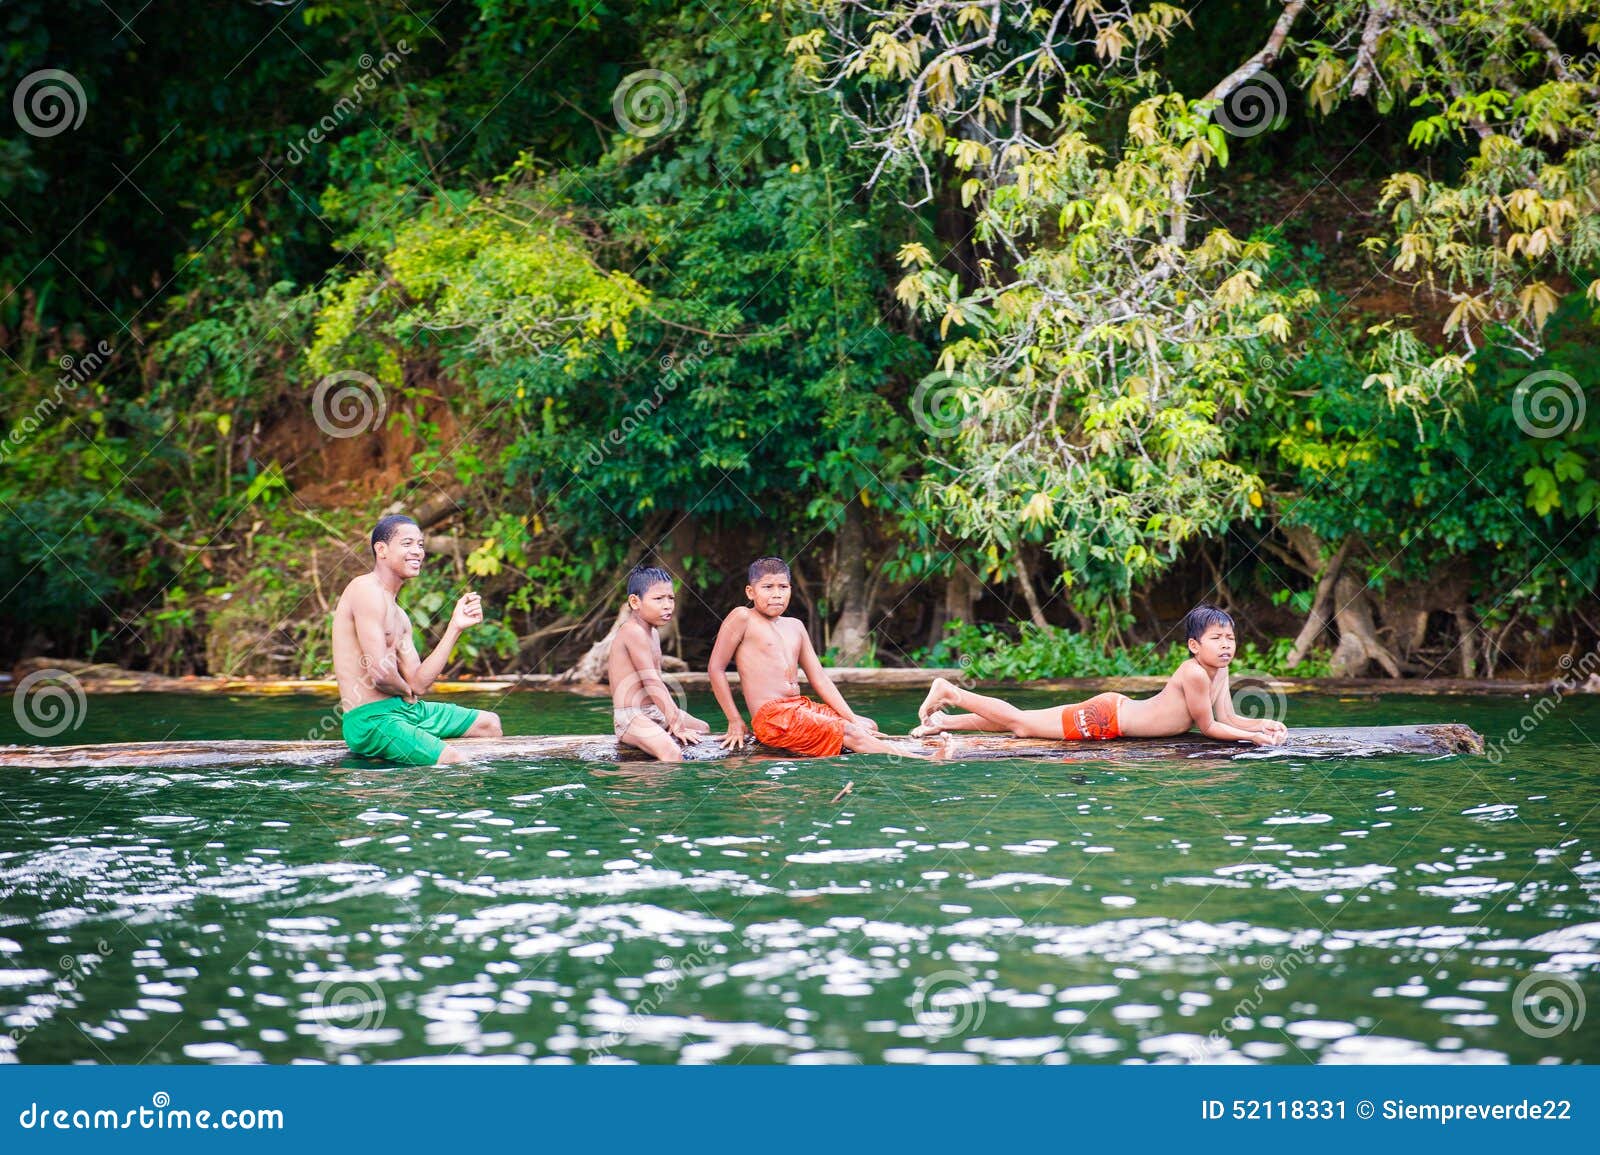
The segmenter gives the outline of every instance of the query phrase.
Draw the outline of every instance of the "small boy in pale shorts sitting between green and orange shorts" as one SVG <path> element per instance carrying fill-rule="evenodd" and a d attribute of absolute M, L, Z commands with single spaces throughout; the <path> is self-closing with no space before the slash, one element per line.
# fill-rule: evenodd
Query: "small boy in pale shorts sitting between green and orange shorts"
<path fill-rule="evenodd" d="M 710 726 L 680 709 L 661 677 L 661 627 L 672 621 L 677 605 L 672 574 L 635 566 L 627 576 L 627 605 L 634 613 L 611 638 L 606 665 L 611 728 L 618 742 L 637 745 L 661 761 L 683 761 L 678 744 L 693 745 Z"/>

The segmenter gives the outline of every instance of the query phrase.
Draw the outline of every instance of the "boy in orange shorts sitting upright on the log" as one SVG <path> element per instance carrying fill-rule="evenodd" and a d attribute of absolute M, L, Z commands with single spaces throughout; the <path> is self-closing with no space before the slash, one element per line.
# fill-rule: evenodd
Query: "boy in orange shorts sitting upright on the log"
<path fill-rule="evenodd" d="M 744 597 L 750 598 L 750 605 L 723 619 L 707 664 L 717 705 L 728 715 L 728 733 L 722 739 L 725 747 L 742 745 L 747 733 L 728 683 L 728 662 L 733 661 L 744 704 L 750 709 L 750 729 L 763 745 L 806 758 L 830 758 L 840 750 L 922 757 L 886 742 L 878 723 L 845 704 L 816 659 L 805 625 L 795 617 L 784 617 L 789 566 L 782 558 L 752 562 Z M 821 702 L 800 696 L 802 669 Z"/>

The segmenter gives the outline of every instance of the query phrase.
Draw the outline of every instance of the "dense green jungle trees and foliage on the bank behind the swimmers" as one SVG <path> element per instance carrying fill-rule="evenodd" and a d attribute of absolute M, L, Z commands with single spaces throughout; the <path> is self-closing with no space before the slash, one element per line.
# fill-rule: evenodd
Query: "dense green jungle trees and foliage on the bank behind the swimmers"
<path fill-rule="evenodd" d="M 1533 677 L 1600 640 L 1592 0 L 16 0 L 0 649 Z"/>

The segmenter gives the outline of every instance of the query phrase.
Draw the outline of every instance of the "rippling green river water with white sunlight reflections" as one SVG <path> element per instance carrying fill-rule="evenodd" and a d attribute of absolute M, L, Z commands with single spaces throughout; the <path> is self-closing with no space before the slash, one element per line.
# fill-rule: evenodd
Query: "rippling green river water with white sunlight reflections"
<path fill-rule="evenodd" d="M 918 702 L 850 699 L 899 733 Z M 610 731 L 606 699 L 451 701 Z M 1491 739 L 1531 705 L 1290 702 Z M 98 696 L 53 741 L 328 705 Z M 1499 765 L 5 771 L 0 1061 L 1592 1062 L 1597 742 L 1570 697 Z"/>

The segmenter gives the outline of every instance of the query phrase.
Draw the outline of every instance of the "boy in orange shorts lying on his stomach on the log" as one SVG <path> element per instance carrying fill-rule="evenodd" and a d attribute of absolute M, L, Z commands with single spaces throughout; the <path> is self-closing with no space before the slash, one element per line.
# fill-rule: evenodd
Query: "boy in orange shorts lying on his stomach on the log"
<path fill-rule="evenodd" d="M 1234 661 L 1234 619 L 1216 606 L 1195 606 L 1184 617 L 1189 657 L 1154 697 L 1096 694 L 1086 702 L 1019 710 L 1000 697 L 984 697 L 946 678 L 934 678 L 918 710 L 922 725 L 912 737 L 950 729 L 998 729 L 1018 737 L 1107 741 L 1112 737 L 1173 737 L 1198 726 L 1206 737 L 1256 745 L 1280 745 L 1288 729 L 1275 718 L 1245 718 L 1234 712 L 1227 664 Z M 968 713 L 946 713 L 954 705 Z"/>

